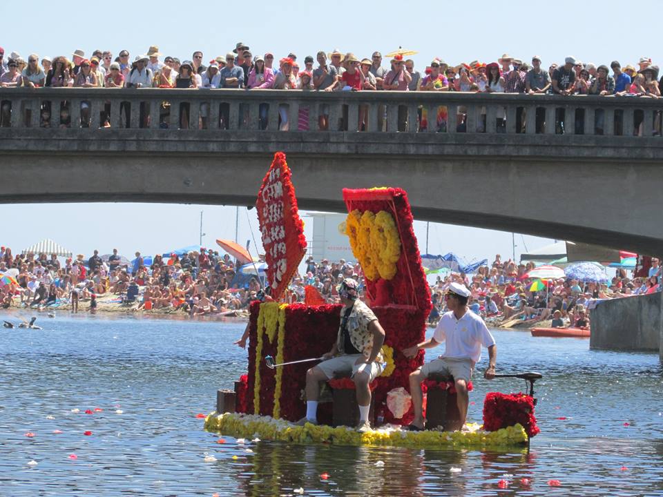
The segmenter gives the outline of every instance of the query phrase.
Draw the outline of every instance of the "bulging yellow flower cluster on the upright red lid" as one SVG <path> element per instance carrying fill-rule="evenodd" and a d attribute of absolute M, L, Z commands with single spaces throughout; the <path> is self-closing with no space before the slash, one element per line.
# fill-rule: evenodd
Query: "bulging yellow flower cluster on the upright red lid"
<path fill-rule="evenodd" d="M 392 280 L 401 258 L 401 236 L 390 213 L 355 209 L 345 219 L 345 234 L 368 280 Z"/>

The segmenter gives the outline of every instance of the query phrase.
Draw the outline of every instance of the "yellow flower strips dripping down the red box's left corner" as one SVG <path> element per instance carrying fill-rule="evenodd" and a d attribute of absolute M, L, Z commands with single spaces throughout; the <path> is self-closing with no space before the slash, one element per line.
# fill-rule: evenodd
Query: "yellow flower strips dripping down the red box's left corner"
<path fill-rule="evenodd" d="M 277 338 L 276 362 L 283 362 L 283 347 L 285 346 L 285 308 L 287 304 L 278 302 L 264 302 L 260 304 L 258 312 L 258 322 L 256 324 L 256 374 L 253 381 L 253 412 L 260 412 L 260 363 L 262 361 L 263 335 L 267 335 L 269 343 Z M 274 408 L 273 416 L 280 416 L 280 398 L 282 385 L 282 368 L 276 370 L 276 385 L 274 387 Z"/>

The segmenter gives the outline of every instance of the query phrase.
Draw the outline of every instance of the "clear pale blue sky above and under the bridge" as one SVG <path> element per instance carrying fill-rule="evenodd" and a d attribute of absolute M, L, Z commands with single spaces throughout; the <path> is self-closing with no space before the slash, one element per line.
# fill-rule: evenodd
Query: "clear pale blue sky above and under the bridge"
<path fill-rule="evenodd" d="M 633 43 L 614 42 L 615 28 L 623 32 L 640 26 L 644 19 L 643 12 L 617 2 L 596 8 L 567 0 L 406 4 L 343 0 L 323 7 L 314 1 L 231 4 L 116 0 L 92 4 L 37 0 L 29 6 L 12 6 L 8 15 L 14 20 L 3 23 L 0 39 L 6 57 L 12 51 L 23 57 L 32 52 L 70 57 L 77 48 L 87 55 L 95 48 L 117 55 L 126 48 L 133 59 L 156 45 L 164 55 L 182 60 L 190 58 L 194 50 L 202 50 L 204 59 L 209 60 L 232 50 L 238 41 L 249 45 L 254 55 L 269 51 L 280 58 L 294 51 L 301 62 L 305 55 L 315 56 L 318 50 L 338 48 L 367 57 L 374 50 L 387 53 L 403 46 L 419 50 L 412 57 L 419 69 L 433 57 L 442 57 L 449 64 L 475 59 L 490 62 L 503 52 L 526 61 L 539 55 L 546 66 L 563 61 L 567 55 L 597 65 L 617 59 L 622 66 L 635 65 L 643 55 L 652 57 L 646 50 L 634 48 Z M 266 162 L 265 170 L 268 166 Z M 296 180 L 295 176 L 295 184 Z M 343 186 L 352 186 L 351 179 Z M 530 201 L 526 193 L 523 201 Z M 208 233 L 204 245 L 212 245 L 218 237 L 235 237 L 233 207 L 32 204 L 0 206 L 0 242 L 20 251 L 50 237 L 85 255 L 95 248 L 107 253 L 113 247 L 124 255 L 137 250 L 157 253 L 198 243 L 200 211 L 204 211 L 204 231 Z M 259 242 L 255 210 L 250 213 Z M 415 231 L 423 252 L 425 223 L 417 222 Z M 249 238 L 246 211 L 241 208 L 239 240 L 245 243 Z M 431 224 L 429 240 L 431 253 L 453 251 L 468 259 L 491 258 L 495 253 L 509 257 L 512 252 L 511 233 Z M 520 235 L 515 241 L 517 256 L 526 247 L 552 242 Z"/>

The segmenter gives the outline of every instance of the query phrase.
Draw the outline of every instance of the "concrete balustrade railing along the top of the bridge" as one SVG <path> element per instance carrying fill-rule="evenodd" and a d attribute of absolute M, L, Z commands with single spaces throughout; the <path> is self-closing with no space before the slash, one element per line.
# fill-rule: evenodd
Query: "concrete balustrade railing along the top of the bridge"
<path fill-rule="evenodd" d="M 661 134 L 663 99 L 463 92 L 0 89 L 1 128 Z"/>

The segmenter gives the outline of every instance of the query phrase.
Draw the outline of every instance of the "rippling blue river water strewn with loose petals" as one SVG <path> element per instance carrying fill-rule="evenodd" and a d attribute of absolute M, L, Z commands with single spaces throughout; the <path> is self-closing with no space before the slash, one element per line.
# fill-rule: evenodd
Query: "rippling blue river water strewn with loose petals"
<path fill-rule="evenodd" d="M 246 370 L 232 344 L 243 322 L 59 313 L 37 324 L 44 330 L 0 328 L 0 496 L 663 495 L 654 354 L 495 330 L 498 372 L 544 373 L 529 454 L 238 445 L 216 443 L 195 415 Z M 522 383 L 477 375 L 470 420 L 481 420 L 487 391 Z"/>

